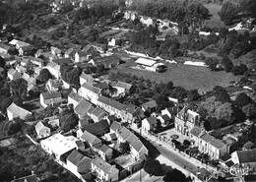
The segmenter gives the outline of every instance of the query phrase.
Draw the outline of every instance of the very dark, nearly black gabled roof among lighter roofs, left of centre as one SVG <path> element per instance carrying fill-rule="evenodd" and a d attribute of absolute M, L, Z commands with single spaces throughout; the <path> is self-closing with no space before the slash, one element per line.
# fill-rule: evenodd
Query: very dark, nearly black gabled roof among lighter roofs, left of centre
<path fill-rule="evenodd" d="M 100 120 L 92 125 L 85 126 L 84 129 L 96 136 L 100 136 L 108 131 L 109 124 L 106 120 Z"/>

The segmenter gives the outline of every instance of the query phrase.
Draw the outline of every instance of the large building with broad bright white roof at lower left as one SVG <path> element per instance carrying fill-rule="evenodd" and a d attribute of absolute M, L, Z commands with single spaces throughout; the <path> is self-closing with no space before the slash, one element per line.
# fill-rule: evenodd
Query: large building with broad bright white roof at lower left
<path fill-rule="evenodd" d="M 76 149 L 76 141 L 78 141 L 78 139 L 74 136 L 55 134 L 45 140 L 42 140 L 40 144 L 41 148 L 45 152 L 54 154 L 57 159 L 62 159 L 62 156 L 66 153 L 72 152 Z"/>

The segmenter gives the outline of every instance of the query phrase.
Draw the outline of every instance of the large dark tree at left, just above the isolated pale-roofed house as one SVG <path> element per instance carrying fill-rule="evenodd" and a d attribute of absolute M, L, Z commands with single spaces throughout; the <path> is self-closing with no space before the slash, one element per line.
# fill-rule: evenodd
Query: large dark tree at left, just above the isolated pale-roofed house
<path fill-rule="evenodd" d="M 26 98 L 27 90 L 28 90 L 28 83 L 24 79 L 17 79 L 11 82 L 10 88 L 13 92 L 13 95 Z"/>

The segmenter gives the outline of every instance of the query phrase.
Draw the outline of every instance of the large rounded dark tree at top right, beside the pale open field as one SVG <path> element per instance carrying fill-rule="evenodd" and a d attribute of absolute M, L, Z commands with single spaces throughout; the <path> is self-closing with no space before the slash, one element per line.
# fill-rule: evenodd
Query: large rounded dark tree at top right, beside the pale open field
<path fill-rule="evenodd" d="M 225 25 L 231 25 L 232 21 L 236 15 L 237 8 L 236 6 L 231 3 L 230 1 L 226 1 L 219 12 L 221 20 L 224 22 Z"/>

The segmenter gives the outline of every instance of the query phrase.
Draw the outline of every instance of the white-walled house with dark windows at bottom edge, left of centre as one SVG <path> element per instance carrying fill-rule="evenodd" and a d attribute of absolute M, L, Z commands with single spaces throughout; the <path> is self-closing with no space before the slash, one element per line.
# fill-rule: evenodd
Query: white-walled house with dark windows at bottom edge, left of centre
<path fill-rule="evenodd" d="M 98 156 L 92 160 L 92 169 L 96 171 L 96 176 L 100 181 L 119 181 L 119 170 L 116 166 L 107 163 Z"/>

